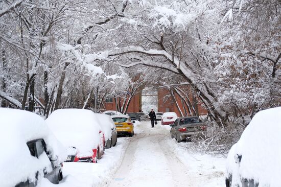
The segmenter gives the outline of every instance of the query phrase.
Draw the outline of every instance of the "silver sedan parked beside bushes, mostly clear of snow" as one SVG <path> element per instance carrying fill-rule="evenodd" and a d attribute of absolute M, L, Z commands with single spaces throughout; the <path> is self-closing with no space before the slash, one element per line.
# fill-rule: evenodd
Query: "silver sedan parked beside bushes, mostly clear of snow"
<path fill-rule="evenodd" d="M 170 126 L 172 127 L 170 130 L 171 137 L 175 138 L 177 142 L 181 142 L 207 130 L 206 125 L 197 116 L 178 118 Z"/>

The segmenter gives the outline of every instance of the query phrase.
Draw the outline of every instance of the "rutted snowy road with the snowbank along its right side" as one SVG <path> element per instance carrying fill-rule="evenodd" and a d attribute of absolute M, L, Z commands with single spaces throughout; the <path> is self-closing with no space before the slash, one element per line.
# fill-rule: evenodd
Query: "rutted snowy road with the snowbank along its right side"
<path fill-rule="evenodd" d="M 225 159 L 188 153 L 167 128 L 140 124 L 107 186 L 223 186 Z"/>

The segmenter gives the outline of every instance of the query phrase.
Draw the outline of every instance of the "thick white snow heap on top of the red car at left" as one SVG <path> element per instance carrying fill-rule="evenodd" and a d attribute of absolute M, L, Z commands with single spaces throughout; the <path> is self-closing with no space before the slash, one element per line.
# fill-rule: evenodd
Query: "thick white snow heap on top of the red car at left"
<path fill-rule="evenodd" d="M 92 155 L 100 144 L 101 127 L 90 110 L 55 110 L 46 123 L 65 147 L 77 148 L 79 157 Z"/>

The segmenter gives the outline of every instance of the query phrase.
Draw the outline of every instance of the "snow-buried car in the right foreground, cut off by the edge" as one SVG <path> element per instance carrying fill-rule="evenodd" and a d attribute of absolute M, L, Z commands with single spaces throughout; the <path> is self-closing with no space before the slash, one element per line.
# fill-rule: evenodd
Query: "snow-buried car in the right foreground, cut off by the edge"
<path fill-rule="evenodd" d="M 280 186 L 281 107 L 257 112 L 228 152 L 227 187 Z"/>

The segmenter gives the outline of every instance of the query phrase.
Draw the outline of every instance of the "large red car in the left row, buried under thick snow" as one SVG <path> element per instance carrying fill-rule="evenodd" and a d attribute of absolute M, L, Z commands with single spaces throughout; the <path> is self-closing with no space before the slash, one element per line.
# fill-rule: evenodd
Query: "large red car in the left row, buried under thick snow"
<path fill-rule="evenodd" d="M 68 148 L 66 161 L 97 162 L 102 158 L 104 137 L 95 113 L 86 109 L 58 109 L 45 120 Z"/>

